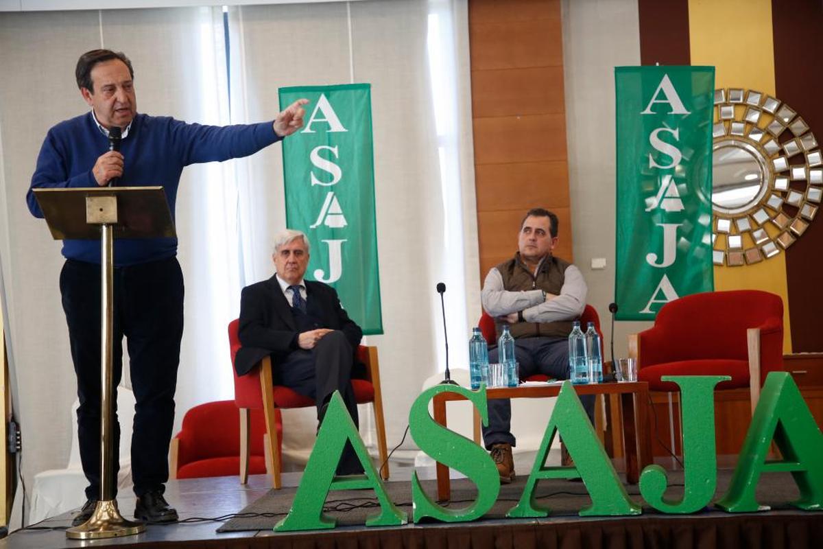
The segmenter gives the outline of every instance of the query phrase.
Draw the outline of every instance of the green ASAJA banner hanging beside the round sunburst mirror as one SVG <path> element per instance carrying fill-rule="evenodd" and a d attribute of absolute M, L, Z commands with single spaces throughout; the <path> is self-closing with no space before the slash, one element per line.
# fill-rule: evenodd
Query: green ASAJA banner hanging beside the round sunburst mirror
<path fill-rule="evenodd" d="M 714 291 L 714 67 L 615 67 L 620 320 Z"/>

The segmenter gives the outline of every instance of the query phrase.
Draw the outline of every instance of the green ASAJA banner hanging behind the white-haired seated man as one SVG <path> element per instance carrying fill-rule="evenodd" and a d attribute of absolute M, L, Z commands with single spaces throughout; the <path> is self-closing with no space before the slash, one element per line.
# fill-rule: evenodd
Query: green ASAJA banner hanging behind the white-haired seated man
<path fill-rule="evenodd" d="M 365 334 L 383 333 L 374 216 L 371 86 L 280 89 L 280 108 L 305 97 L 305 126 L 283 141 L 286 225 L 311 245 L 306 278 L 337 290 Z"/>

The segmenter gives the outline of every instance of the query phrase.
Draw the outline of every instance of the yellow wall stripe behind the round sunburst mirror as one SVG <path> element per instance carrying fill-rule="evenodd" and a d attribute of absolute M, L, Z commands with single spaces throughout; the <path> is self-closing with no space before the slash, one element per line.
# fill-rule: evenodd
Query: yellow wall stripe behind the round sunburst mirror
<path fill-rule="evenodd" d="M 771 0 L 689 0 L 689 38 L 691 64 L 714 65 L 716 88 L 774 95 Z M 783 298 L 783 351 L 792 351 L 786 254 L 745 267 L 715 267 L 714 289 L 763 290 Z"/>

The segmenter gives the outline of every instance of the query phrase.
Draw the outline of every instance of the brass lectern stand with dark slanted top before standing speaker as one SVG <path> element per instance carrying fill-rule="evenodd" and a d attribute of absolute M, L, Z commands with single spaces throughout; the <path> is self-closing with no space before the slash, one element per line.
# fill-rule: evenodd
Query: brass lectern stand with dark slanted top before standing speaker
<path fill-rule="evenodd" d="M 54 240 L 100 239 L 100 500 L 86 523 L 68 528 L 72 539 L 131 536 L 146 525 L 123 519 L 114 499 L 112 344 L 114 331 L 114 238 L 174 237 L 162 187 L 35 188 Z"/>

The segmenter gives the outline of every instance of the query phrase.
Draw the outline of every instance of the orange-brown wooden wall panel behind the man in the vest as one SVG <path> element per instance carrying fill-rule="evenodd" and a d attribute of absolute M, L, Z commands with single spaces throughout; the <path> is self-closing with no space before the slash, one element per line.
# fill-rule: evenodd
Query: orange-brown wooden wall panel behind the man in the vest
<path fill-rule="evenodd" d="M 556 212 L 572 261 L 560 2 L 469 0 L 468 15 L 481 280 L 532 207 Z"/>

